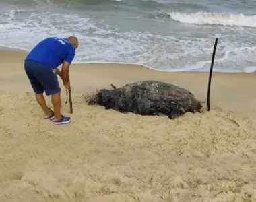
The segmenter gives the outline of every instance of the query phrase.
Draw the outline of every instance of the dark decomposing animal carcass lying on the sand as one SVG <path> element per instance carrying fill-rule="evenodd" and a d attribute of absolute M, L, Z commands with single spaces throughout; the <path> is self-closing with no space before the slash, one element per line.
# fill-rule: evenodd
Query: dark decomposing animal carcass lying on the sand
<path fill-rule="evenodd" d="M 141 115 L 167 115 L 170 119 L 185 112 L 202 112 L 195 96 L 179 86 L 161 81 L 138 81 L 121 88 L 102 89 L 89 98 L 88 104 Z"/>

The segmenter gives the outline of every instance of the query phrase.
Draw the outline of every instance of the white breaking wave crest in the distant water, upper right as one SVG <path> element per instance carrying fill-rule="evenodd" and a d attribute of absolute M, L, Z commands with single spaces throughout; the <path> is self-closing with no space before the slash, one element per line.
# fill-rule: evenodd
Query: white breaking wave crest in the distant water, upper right
<path fill-rule="evenodd" d="M 228 14 L 228 13 L 168 13 L 172 20 L 187 24 L 220 24 L 224 26 L 256 27 L 256 15 Z"/>

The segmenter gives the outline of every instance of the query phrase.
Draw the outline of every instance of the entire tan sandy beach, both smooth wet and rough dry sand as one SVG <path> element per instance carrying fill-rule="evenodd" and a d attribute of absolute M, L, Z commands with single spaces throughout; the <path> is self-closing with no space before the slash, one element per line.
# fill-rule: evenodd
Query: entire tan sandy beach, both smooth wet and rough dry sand
<path fill-rule="evenodd" d="M 88 106 L 84 95 L 154 79 L 206 102 L 208 73 L 73 64 L 73 114 L 60 81 L 72 122 L 53 125 L 24 73 L 26 54 L 0 50 L 0 201 L 256 201 L 255 73 L 214 72 L 210 112 L 170 120 Z"/>

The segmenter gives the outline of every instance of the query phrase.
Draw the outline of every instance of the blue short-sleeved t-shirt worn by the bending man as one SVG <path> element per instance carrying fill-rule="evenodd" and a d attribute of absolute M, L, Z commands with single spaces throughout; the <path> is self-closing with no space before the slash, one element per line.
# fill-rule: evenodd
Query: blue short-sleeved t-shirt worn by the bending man
<path fill-rule="evenodd" d="M 25 60 L 37 61 L 52 69 L 63 61 L 71 63 L 75 57 L 75 48 L 65 38 L 51 37 L 39 42 Z"/>

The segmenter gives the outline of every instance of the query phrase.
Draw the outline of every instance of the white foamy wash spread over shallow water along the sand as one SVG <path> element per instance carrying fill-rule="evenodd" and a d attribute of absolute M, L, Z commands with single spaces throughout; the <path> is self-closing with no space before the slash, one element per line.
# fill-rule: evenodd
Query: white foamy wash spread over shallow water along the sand
<path fill-rule="evenodd" d="M 215 36 L 195 38 L 132 30 L 121 32 L 116 27 L 99 28 L 86 16 L 70 14 L 9 10 L 1 11 L 0 16 L 0 45 L 9 48 L 29 51 L 46 37 L 75 34 L 80 46 L 73 63 L 137 64 L 170 72 L 207 71 L 215 39 Z M 69 27 L 69 24 L 77 26 Z M 234 36 L 218 37 L 214 71 L 246 72 L 247 67 L 253 68 L 246 65 L 247 61 L 253 62 L 253 44 L 241 46 Z"/>

